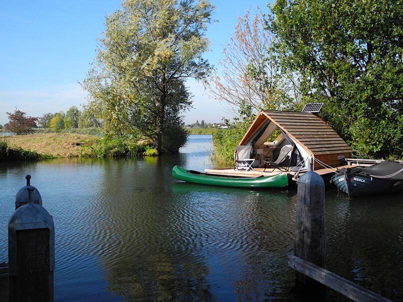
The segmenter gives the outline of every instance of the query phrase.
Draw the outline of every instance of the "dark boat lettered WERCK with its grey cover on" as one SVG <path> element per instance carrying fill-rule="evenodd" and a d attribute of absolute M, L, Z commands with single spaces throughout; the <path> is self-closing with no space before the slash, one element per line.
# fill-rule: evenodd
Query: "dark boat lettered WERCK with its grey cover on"
<path fill-rule="evenodd" d="M 386 160 L 370 167 L 343 168 L 331 182 L 350 197 L 395 193 L 403 190 L 403 165 Z"/>

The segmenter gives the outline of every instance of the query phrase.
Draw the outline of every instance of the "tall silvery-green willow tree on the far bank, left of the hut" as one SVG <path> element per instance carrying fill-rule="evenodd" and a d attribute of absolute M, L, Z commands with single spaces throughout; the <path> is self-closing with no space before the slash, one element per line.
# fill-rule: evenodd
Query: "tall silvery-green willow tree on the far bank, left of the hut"
<path fill-rule="evenodd" d="M 83 82 L 105 133 L 140 133 L 159 152 L 186 141 L 181 112 L 191 106 L 185 81 L 204 79 L 210 66 L 208 0 L 125 0 L 106 18 L 96 58 Z"/>

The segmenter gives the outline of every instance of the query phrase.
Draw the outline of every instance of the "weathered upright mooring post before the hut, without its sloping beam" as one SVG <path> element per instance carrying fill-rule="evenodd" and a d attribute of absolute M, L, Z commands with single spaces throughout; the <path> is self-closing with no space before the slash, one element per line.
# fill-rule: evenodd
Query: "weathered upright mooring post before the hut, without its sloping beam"
<path fill-rule="evenodd" d="M 325 183 L 313 171 L 305 173 L 298 180 L 294 254 L 325 268 Z M 297 273 L 297 281 L 305 285 L 317 285 L 300 273 Z"/>

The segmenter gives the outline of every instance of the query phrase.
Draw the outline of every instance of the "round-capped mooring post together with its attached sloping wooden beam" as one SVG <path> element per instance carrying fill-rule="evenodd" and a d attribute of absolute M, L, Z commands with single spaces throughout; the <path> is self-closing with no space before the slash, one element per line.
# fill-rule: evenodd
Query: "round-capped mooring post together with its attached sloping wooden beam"
<path fill-rule="evenodd" d="M 294 256 L 288 265 L 296 270 L 296 289 L 309 301 L 325 301 L 325 287 L 358 302 L 392 302 L 374 292 L 325 270 L 325 183 L 307 172 L 298 180 Z"/>

